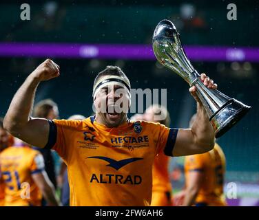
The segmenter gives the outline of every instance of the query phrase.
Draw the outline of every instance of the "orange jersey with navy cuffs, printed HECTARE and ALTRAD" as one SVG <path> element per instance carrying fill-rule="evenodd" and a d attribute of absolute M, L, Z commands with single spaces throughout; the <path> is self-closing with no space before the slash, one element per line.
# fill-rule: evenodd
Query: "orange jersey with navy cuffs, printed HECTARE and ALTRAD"
<path fill-rule="evenodd" d="M 45 148 L 68 165 L 70 206 L 150 205 L 154 156 L 172 155 L 177 129 L 144 121 L 108 128 L 94 117 L 49 122 Z"/>

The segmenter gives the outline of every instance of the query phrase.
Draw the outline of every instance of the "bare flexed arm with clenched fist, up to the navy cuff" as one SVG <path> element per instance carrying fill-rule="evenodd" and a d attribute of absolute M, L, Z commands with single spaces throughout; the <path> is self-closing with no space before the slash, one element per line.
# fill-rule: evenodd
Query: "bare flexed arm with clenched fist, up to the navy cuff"
<path fill-rule="evenodd" d="M 47 59 L 26 78 L 12 98 L 3 120 L 4 128 L 15 137 L 33 146 L 43 148 L 48 143 L 50 125 L 45 118 L 31 118 L 32 103 L 41 81 L 59 76 L 59 66 Z"/>

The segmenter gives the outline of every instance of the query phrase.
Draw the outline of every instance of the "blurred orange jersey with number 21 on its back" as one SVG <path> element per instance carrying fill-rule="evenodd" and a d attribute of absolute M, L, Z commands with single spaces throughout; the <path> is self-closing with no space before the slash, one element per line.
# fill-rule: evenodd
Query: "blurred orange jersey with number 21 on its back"
<path fill-rule="evenodd" d="M 41 153 L 29 146 L 10 146 L 0 153 L 0 164 L 5 206 L 40 206 L 42 195 L 32 175 L 44 170 Z"/>

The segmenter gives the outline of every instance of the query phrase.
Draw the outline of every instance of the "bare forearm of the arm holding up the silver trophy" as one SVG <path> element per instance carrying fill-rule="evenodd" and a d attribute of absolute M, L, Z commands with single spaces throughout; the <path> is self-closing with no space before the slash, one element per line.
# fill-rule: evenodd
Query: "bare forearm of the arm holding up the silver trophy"
<path fill-rule="evenodd" d="M 215 133 L 212 128 L 209 117 L 205 108 L 200 102 L 197 102 L 197 115 L 194 124 L 191 126 L 191 131 L 194 134 L 194 141 L 197 146 L 209 151 L 214 147 Z"/>

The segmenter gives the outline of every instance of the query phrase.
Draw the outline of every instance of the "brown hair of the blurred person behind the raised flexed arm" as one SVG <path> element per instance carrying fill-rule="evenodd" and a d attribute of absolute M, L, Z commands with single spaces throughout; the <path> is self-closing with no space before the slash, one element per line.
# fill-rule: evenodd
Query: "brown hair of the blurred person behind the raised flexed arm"
<path fill-rule="evenodd" d="M 33 109 L 33 116 L 37 118 L 47 118 L 50 110 L 58 105 L 51 99 L 45 99 L 38 102 Z"/>

